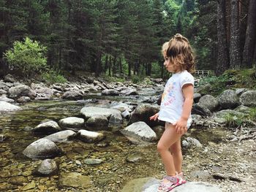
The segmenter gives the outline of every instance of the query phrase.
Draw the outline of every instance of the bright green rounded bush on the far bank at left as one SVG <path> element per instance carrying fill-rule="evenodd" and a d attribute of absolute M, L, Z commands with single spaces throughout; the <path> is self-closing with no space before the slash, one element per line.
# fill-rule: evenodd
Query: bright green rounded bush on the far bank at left
<path fill-rule="evenodd" d="M 10 69 L 20 70 L 23 77 L 33 77 L 47 69 L 46 47 L 26 37 L 24 42 L 16 41 L 13 48 L 4 53 Z"/>

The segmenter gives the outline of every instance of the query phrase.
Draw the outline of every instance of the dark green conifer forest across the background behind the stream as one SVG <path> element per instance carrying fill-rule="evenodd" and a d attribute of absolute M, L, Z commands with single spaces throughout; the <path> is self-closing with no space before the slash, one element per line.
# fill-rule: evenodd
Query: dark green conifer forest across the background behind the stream
<path fill-rule="evenodd" d="M 0 0 L 0 12 L 0 76 L 163 77 L 161 47 L 176 33 L 191 42 L 197 69 L 220 75 L 252 68 L 256 59 L 253 0 Z M 42 58 L 29 64 L 33 43 Z M 29 50 L 15 60 L 18 47 Z"/>

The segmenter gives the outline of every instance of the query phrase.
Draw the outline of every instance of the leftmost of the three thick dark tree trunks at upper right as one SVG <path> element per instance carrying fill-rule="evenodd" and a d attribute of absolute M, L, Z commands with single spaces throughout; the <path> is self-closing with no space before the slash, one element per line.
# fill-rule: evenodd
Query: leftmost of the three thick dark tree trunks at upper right
<path fill-rule="evenodd" d="M 218 37 L 218 58 L 216 74 L 220 75 L 228 69 L 228 51 L 225 22 L 225 0 L 217 1 L 217 37 Z"/>

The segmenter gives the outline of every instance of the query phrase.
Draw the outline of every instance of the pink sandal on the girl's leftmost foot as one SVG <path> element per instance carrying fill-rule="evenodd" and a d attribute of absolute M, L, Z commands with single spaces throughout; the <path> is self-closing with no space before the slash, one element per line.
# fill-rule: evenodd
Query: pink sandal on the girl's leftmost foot
<path fill-rule="evenodd" d="M 173 190 L 173 188 L 176 188 L 178 185 L 181 185 L 182 183 L 179 183 L 178 175 L 176 176 L 165 176 L 162 179 L 161 184 L 159 185 L 159 188 L 157 189 L 157 192 L 167 192 Z"/>

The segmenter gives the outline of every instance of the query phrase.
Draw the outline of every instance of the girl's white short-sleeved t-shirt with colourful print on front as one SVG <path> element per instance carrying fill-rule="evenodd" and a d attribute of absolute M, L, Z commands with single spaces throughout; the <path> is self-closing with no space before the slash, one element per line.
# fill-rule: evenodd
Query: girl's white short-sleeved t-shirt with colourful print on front
<path fill-rule="evenodd" d="M 173 74 L 165 85 L 165 91 L 162 93 L 161 107 L 159 111 L 159 120 L 163 120 L 169 123 L 175 123 L 181 118 L 183 110 L 184 96 L 182 93 L 182 87 L 185 84 L 192 84 L 194 86 L 194 77 L 187 72 L 179 72 Z M 187 120 L 187 128 L 192 123 L 191 115 Z"/>

